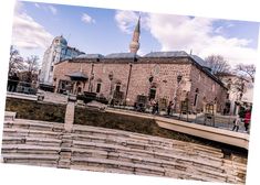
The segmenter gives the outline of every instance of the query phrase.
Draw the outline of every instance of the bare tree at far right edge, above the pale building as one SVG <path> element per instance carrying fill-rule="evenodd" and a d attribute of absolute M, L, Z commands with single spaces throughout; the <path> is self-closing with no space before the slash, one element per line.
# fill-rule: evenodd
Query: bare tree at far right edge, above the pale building
<path fill-rule="evenodd" d="M 235 70 L 240 76 L 246 76 L 251 79 L 251 83 L 254 83 L 256 66 L 253 64 L 239 64 L 236 66 Z"/>

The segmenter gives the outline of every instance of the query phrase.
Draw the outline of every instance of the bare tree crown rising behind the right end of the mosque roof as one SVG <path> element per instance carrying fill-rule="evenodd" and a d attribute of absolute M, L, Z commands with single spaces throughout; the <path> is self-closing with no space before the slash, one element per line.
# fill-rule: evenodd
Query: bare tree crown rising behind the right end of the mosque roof
<path fill-rule="evenodd" d="M 211 68 L 212 74 L 228 73 L 230 70 L 230 65 L 221 55 L 210 55 L 205 58 L 205 62 Z"/>

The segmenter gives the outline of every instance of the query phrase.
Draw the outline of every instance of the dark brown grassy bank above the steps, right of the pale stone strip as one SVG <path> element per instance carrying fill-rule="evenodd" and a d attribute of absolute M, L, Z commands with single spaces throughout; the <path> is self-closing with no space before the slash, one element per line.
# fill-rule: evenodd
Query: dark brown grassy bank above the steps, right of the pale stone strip
<path fill-rule="evenodd" d="M 117 115 L 112 112 L 101 112 L 97 110 L 92 110 L 86 108 L 77 107 L 75 109 L 74 123 L 102 127 L 107 129 L 117 129 L 117 130 L 143 133 L 143 134 L 149 134 L 154 137 L 201 143 L 199 140 L 196 140 L 195 138 L 191 138 L 187 134 L 160 128 L 153 119 Z"/>

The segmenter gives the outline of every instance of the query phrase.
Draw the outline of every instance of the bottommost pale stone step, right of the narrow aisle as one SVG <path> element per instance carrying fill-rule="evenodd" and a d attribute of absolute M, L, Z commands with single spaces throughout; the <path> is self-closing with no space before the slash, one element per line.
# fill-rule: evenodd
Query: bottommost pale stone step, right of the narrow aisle
<path fill-rule="evenodd" d="M 85 164 L 85 165 L 83 165 Z M 80 166 L 80 167 L 79 167 Z M 102 172 L 121 172 L 121 173 L 132 173 L 138 175 L 156 175 L 156 176 L 169 176 L 173 175 L 178 178 L 189 178 L 189 179 L 200 179 L 200 181 L 217 181 L 225 182 L 225 174 L 210 174 L 206 176 L 202 173 L 187 173 L 185 170 L 176 168 L 167 168 L 162 166 L 154 166 L 150 164 L 141 164 L 141 163 L 131 163 L 126 161 L 111 160 L 111 159 L 96 159 L 96 157 L 72 157 L 72 168 L 80 170 L 94 170 Z"/>

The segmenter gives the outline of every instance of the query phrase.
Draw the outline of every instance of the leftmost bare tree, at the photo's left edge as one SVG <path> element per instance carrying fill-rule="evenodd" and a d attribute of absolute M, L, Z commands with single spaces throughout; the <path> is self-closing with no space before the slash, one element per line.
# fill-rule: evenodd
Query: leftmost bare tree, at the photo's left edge
<path fill-rule="evenodd" d="M 8 75 L 12 76 L 14 73 L 22 70 L 24 68 L 23 58 L 13 45 L 10 47 L 10 58 L 9 58 L 9 70 Z"/>

